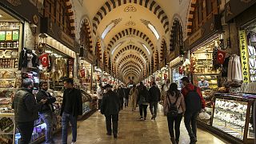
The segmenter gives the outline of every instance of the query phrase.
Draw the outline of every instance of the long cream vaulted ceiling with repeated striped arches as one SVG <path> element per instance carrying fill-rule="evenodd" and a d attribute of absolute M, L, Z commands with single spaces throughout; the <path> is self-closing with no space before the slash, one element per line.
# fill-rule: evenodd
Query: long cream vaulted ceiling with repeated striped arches
<path fill-rule="evenodd" d="M 92 33 L 101 39 L 116 77 L 146 76 L 149 64 L 161 58 L 163 39 L 181 0 L 84 0 Z M 151 30 L 150 30 L 151 28 Z M 154 34 L 155 29 L 158 33 Z M 108 29 L 108 30 L 106 30 Z M 158 50 L 158 52 L 156 52 Z"/>

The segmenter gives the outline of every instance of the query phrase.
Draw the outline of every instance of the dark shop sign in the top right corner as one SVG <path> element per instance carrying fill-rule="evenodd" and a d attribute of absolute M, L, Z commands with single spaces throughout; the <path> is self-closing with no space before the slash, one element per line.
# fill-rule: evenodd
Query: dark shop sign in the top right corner
<path fill-rule="evenodd" d="M 225 20 L 229 22 L 231 19 L 241 14 L 243 11 L 253 6 L 255 0 L 232 0 L 225 5 Z M 248 16 L 249 17 L 249 16 Z"/>

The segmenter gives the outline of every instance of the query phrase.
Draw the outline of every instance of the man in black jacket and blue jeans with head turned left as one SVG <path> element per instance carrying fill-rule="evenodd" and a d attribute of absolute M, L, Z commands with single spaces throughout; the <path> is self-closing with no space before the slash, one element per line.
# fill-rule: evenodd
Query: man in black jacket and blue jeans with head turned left
<path fill-rule="evenodd" d="M 69 122 L 72 127 L 72 143 L 77 141 L 77 121 L 78 115 L 82 115 L 82 94 L 81 91 L 74 88 L 74 80 L 67 78 L 64 80 L 64 90 L 62 99 L 62 144 L 67 143 L 67 128 Z"/>

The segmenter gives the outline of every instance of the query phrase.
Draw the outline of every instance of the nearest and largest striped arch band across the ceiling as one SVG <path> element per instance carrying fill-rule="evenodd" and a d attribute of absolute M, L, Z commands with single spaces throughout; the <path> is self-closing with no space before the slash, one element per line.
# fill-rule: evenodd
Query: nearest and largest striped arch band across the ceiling
<path fill-rule="evenodd" d="M 165 29 L 165 33 L 169 31 L 169 20 L 167 15 L 161 6 L 159 6 L 156 2 L 151 0 L 109 0 L 105 3 L 104 6 L 98 10 L 97 14 L 95 14 L 93 19 L 93 32 L 96 35 L 96 31 L 98 29 L 98 25 L 102 21 L 102 19 L 109 13 L 111 10 L 114 10 L 118 6 L 122 6 L 127 3 L 134 3 L 140 6 L 144 6 L 146 9 L 153 12 L 158 19 L 162 22 L 163 28 Z"/>

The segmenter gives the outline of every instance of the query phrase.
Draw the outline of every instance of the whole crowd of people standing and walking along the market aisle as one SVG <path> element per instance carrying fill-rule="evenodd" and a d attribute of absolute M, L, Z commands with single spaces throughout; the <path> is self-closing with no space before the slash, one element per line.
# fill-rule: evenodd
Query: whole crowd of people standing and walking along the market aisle
<path fill-rule="evenodd" d="M 178 144 L 180 137 L 180 124 L 184 116 L 186 130 L 190 136 L 190 143 L 197 142 L 197 121 L 196 118 L 201 110 L 205 109 L 205 101 L 202 98 L 200 87 L 190 83 L 189 78 L 181 79 L 183 88 L 178 90 L 176 83 L 166 84 L 160 90 L 155 82 L 148 90 L 142 82 L 138 86 L 131 88 L 119 86 L 113 90 L 110 84 L 102 86 L 99 84 L 98 110 L 106 117 L 106 134 L 114 135 L 118 138 L 118 114 L 123 107 L 131 107 L 135 111 L 139 107 L 139 119 L 146 121 L 147 107 L 150 106 L 151 120 L 155 120 L 158 115 L 158 103 L 162 101 L 163 111 L 166 115 L 170 140 L 173 144 Z M 56 98 L 47 92 L 47 82 L 40 82 L 40 90 L 34 98 L 32 94 L 33 81 L 24 79 L 22 89 L 14 96 L 13 109 L 15 122 L 21 133 L 21 143 L 28 144 L 34 130 L 34 121 L 38 115 L 46 123 L 46 143 L 53 141 L 53 103 Z M 72 144 L 77 139 L 78 116 L 82 115 L 82 94 L 81 90 L 74 88 L 74 80 L 67 78 L 64 80 L 64 93 L 62 98 L 62 144 L 67 143 L 67 128 L 69 123 L 72 130 Z"/>

